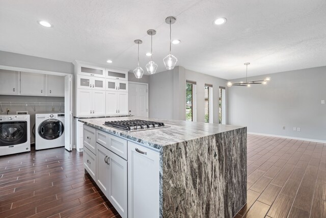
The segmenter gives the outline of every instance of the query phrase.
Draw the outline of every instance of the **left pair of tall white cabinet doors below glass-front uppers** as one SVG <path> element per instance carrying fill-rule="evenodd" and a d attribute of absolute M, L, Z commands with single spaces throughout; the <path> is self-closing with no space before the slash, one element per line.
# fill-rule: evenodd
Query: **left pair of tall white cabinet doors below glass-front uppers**
<path fill-rule="evenodd" d="M 105 91 L 77 89 L 77 116 L 105 115 Z"/>

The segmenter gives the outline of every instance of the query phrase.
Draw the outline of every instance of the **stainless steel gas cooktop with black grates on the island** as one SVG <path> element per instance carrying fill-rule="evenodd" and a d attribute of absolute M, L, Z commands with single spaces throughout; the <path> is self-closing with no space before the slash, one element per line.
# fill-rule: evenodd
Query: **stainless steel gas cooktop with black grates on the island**
<path fill-rule="evenodd" d="M 142 119 L 129 119 L 120 121 L 105 122 L 105 126 L 114 127 L 127 132 L 135 132 L 142 130 L 152 130 L 167 128 L 164 123 L 142 120 Z"/>

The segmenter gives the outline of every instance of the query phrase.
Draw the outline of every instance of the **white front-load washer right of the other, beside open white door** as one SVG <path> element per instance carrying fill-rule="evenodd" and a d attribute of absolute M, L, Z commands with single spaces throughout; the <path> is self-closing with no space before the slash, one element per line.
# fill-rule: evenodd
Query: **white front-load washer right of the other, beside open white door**
<path fill-rule="evenodd" d="M 35 149 L 65 146 L 64 113 L 35 114 Z"/>

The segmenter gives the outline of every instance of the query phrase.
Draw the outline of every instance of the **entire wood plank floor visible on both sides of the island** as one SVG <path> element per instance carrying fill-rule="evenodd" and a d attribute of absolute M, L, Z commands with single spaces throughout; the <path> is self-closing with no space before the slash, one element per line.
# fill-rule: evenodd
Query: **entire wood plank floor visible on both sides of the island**
<path fill-rule="evenodd" d="M 0 157 L 0 217 L 120 217 L 64 148 Z M 326 144 L 248 135 L 248 203 L 236 217 L 326 217 Z"/>

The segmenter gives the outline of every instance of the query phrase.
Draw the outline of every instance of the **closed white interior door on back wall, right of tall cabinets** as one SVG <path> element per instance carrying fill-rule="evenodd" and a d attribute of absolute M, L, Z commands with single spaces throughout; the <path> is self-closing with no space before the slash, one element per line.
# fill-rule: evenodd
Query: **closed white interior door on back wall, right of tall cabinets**
<path fill-rule="evenodd" d="M 148 117 L 148 84 L 129 82 L 129 113 Z"/>

